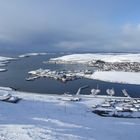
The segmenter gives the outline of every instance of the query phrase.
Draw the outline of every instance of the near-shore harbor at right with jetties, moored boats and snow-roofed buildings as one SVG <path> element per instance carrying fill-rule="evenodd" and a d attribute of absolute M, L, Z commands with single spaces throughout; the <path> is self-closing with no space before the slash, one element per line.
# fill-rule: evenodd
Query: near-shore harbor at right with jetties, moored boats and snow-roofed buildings
<path fill-rule="evenodd" d="M 132 98 L 126 89 L 122 89 L 124 96 L 116 97 L 115 90 L 106 89 L 107 95 L 99 95 L 100 89 L 91 89 L 90 95 L 81 95 L 83 86 L 75 95 L 64 94 L 63 101 L 81 101 L 86 98 L 102 99 L 101 102 L 91 105 L 91 112 L 103 117 L 140 118 L 140 98 Z M 66 98 L 66 97 L 67 98 Z"/>

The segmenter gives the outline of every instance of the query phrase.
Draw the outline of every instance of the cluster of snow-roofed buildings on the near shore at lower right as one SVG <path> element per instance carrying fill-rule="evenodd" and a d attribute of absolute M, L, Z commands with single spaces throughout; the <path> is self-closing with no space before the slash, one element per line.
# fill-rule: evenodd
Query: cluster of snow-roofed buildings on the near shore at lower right
<path fill-rule="evenodd" d="M 126 102 L 127 100 L 127 102 Z M 140 99 L 110 98 L 93 105 L 92 112 L 104 117 L 140 118 Z"/>

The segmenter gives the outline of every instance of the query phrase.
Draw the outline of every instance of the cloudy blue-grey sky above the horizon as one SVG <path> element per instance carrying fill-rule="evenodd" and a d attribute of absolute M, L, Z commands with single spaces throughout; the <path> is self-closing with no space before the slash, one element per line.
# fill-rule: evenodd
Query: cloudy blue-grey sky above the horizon
<path fill-rule="evenodd" d="M 140 52 L 140 1 L 0 0 L 0 51 Z"/>

